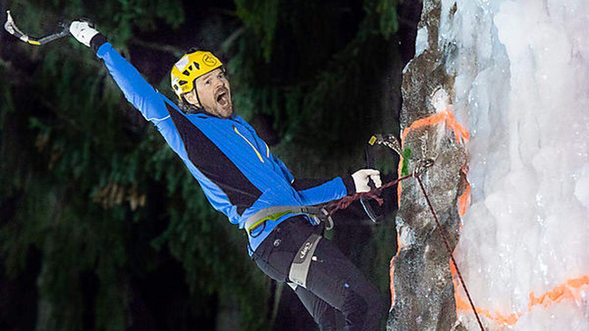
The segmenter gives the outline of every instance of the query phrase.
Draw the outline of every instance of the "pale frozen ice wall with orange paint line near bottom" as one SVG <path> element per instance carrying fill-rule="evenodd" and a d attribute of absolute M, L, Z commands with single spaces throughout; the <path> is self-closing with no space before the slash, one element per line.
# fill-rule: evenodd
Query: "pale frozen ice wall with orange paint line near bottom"
<path fill-rule="evenodd" d="M 455 257 L 484 325 L 589 330 L 589 1 L 442 0 L 440 17 L 471 133 Z"/>

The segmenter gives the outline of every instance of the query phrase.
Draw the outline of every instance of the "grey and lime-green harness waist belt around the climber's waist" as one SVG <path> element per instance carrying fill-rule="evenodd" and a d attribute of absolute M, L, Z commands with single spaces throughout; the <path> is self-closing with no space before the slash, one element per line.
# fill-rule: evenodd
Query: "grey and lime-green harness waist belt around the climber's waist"
<path fill-rule="evenodd" d="M 248 236 L 256 237 L 262 233 L 267 221 L 276 221 L 286 214 L 306 214 L 313 225 L 325 222 L 325 230 L 333 229 L 333 219 L 327 210 L 317 206 L 274 206 L 263 208 L 248 217 L 244 228 Z M 260 230 L 260 231 L 257 231 Z"/>

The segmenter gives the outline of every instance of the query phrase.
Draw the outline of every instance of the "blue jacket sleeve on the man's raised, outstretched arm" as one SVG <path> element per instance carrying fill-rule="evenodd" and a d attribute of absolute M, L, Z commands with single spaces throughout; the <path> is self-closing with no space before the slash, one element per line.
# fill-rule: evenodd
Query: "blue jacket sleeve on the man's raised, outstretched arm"
<path fill-rule="evenodd" d="M 104 36 L 98 34 L 92 38 L 90 44 L 97 50 L 97 57 L 104 61 L 108 72 L 123 91 L 127 101 L 133 104 L 146 120 L 157 127 L 168 145 L 180 157 L 185 158 L 184 144 L 167 109 L 176 105 L 145 81 L 137 69 L 121 57 L 109 42 L 106 42 Z"/>

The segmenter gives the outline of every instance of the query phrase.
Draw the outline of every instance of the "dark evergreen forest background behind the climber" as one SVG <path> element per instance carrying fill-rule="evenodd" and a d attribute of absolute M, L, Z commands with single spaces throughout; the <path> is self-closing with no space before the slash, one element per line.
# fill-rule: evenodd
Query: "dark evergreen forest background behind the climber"
<path fill-rule="evenodd" d="M 171 66 L 210 49 L 294 176 L 330 178 L 364 166 L 371 134 L 398 134 L 421 1 L 0 0 L 2 25 L 7 9 L 32 37 L 90 19 L 173 100 Z M 361 216 L 330 237 L 389 298 L 394 214 Z M 0 330 L 315 329 L 245 245 L 90 49 L 2 29 Z"/>

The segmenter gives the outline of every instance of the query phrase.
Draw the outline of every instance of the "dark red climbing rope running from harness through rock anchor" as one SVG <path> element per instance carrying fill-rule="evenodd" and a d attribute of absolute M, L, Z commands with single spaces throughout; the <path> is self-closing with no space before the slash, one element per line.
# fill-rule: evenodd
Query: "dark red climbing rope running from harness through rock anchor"
<path fill-rule="evenodd" d="M 466 288 L 466 283 L 464 282 L 464 279 L 462 279 L 462 274 L 460 273 L 460 269 L 458 268 L 458 264 L 456 263 L 456 260 L 454 260 L 454 255 L 452 254 L 452 250 L 450 249 L 450 244 L 448 243 L 448 238 L 446 237 L 446 233 L 445 233 L 444 229 L 442 229 L 442 226 L 439 223 L 438 216 L 436 215 L 436 213 L 434 211 L 434 207 L 432 207 L 431 201 L 429 201 L 428 193 L 426 193 L 425 187 L 423 187 L 423 183 L 421 182 L 421 178 L 419 178 L 419 175 L 417 175 L 417 176 L 413 176 L 413 175 L 414 174 L 409 174 L 407 176 L 403 176 L 401 178 L 398 178 L 397 180 L 390 181 L 389 183 L 383 184 L 382 186 L 375 188 L 373 190 L 370 190 L 368 192 L 356 193 L 356 194 L 353 194 L 352 196 L 343 197 L 333 203 L 328 204 L 325 207 L 325 210 L 327 210 L 327 213 L 329 214 L 329 216 L 331 216 L 337 210 L 348 208 L 350 206 L 350 204 L 352 204 L 356 200 L 359 200 L 359 198 L 361 198 L 361 197 L 373 198 L 374 200 L 376 200 L 378 202 L 378 204 L 380 206 L 382 206 L 383 200 L 382 200 L 382 198 L 380 198 L 378 196 L 380 194 L 380 191 L 384 190 L 387 187 L 391 187 L 393 185 L 396 185 L 400 181 L 406 180 L 409 177 L 415 177 L 419 183 L 419 187 L 421 187 L 421 191 L 423 192 L 423 195 L 425 196 L 425 201 L 427 201 L 427 203 L 428 203 L 429 210 L 431 210 L 432 215 L 434 215 L 434 220 L 436 221 L 436 225 L 438 226 L 439 233 L 442 235 L 442 239 L 444 240 L 444 244 L 446 246 L 446 250 L 448 251 L 448 255 L 450 256 L 452 264 L 454 264 L 454 267 L 456 268 L 456 274 L 458 274 L 458 278 L 460 279 L 460 283 L 462 284 L 462 288 L 464 289 L 464 292 L 466 293 L 466 297 L 468 297 L 468 302 L 471 304 L 472 311 L 475 313 L 475 317 L 477 317 L 478 325 L 479 325 L 479 327 L 481 327 L 481 331 L 485 331 L 485 328 L 482 326 L 481 319 L 479 319 L 477 309 L 475 308 L 475 304 L 472 302 L 471 294 L 468 293 L 468 289 Z"/>

